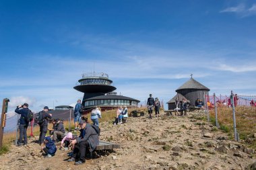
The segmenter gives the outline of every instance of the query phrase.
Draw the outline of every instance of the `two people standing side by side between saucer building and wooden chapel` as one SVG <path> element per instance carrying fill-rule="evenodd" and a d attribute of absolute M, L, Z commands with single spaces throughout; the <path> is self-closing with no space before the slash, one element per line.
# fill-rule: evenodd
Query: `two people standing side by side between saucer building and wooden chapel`
<path fill-rule="evenodd" d="M 152 94 L 150 94 L 150 97 L 148 97 L 147 101 L 147 107 L 148 107 L 148 114 L 150 114 L 150 119 L 152 119 L 153 109 L 155 110 L 156 117 L 159 116 L 159 110 L 161 108 L 160 101 L 158 100 L 158 97 L 156 97 L 156 100 L 154 97 L 152 97 Z"/>

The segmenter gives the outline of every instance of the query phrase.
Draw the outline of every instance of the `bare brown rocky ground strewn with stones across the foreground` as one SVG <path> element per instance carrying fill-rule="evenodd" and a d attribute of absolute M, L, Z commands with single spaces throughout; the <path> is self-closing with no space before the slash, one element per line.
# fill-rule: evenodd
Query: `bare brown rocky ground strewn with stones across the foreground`
<path fill-rule="evenodd" d="M 198 112 L 188 116 L 129 118 L 126 124 L 100 124 L 100 140 L 121 144 L 113 152 L 98 153 L 84 165 L 67 161 L 67 151 L 42 157 L 40 147 L 30 139 L 28 146 L 11 146 L 0 156 L 0 169 L 256 169 L 255 151 L 199 120 Z M 59 148 L 59 146 L 58 146 Z"/>

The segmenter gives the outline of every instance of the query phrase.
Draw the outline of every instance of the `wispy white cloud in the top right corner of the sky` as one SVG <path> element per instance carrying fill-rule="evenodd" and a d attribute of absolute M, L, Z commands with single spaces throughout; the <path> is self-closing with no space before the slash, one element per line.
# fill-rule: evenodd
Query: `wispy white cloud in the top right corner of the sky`
<path fill-rule="evenodd" d="M 245 4 L 239 4 L 236 7 L 227 7 L 226 9 L 223 9 L 222 11 L 220 11 L 220 13 L 226 13 L 226 12 L 237 13 L 241 17 L 256 15 L 256 3 L 254 3 L 250 7 L 246 7 Z"/>

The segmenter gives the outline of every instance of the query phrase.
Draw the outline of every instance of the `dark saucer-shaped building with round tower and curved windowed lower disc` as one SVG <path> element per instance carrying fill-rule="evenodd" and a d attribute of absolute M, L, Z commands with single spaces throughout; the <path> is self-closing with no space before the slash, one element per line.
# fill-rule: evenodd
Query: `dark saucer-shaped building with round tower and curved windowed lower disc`
<path fill-rule="evenodd" d="M 113 81 L 108 79 L 105 73 L 86 73 L 73 88 L 84 93 L 82 105 L 85 110 L 90 110 L 96 105 L 100 108 L 117 108 L 119 105 L 127 105 L 127 108 L 137 107 L 139 100 L 117 95 L 117 88 L 111 83 Z"/>

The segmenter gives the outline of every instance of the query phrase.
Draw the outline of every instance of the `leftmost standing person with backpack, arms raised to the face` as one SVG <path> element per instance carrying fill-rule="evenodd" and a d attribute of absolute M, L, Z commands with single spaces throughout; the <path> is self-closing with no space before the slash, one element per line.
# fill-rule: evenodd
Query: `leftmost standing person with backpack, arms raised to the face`
<path fill-rule="evenodd" d="M 17 114 L 20 114 L 20 120 L 19 120 L 19 131 L 20 131 L 20 138 L 18 140 L 18 146 L 22 146 L 22 140 L 24 139 L 24 145 L 27 145 L 28 138 L 27 138 L 27 128 L 28 123 L 25 120 L 25 117 L 28 115 L 28 103 L 24 103 L 23 105 L 18 105 L 15 109 L 15 112 Z"/>

